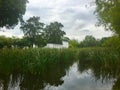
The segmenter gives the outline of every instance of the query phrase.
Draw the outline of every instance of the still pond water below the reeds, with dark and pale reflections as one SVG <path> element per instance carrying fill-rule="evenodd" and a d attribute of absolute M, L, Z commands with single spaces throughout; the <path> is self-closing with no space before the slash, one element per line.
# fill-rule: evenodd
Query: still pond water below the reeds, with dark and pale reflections
<path fill-rule="evenodd" d="M 120 90 L 118 67 L 110 61 L 84 59 L 48 66 L 40 74 L 1 72 L 0 90 Z"/>

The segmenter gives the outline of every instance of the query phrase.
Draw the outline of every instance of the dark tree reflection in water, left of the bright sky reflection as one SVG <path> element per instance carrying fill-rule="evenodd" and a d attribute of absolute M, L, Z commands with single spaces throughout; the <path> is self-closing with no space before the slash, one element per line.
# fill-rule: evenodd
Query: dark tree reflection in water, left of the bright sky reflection
<path fill-rule="evenodd" d="M 45 87 L 45 84 L 54 86 L 61 85 L 63 81 L 61 78 L 66 75 L 66 70 L 73 64 L 73 61 L 59 62 L 54 65 L 46 66 L 45 70 L 40 74 L 18 74 L 12 73 L 11 85 L 14 86 L 18 77 L 22 76 L 23 80 L 20 83 L 20 90 L 40 90 Z M 8 84 L 10 82 L 10 75 L 0 73 L 1 85 L 3 84 L 4 90 L 8 90 Z"/>

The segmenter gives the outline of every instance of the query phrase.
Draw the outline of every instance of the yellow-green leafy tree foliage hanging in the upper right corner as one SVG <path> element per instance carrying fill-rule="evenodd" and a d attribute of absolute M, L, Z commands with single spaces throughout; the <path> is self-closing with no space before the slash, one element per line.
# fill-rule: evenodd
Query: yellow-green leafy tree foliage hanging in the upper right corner
<path fill-rule="evenodd" d="M 120 0 L 95 0 L 99 25 L 120 35 Z"/>

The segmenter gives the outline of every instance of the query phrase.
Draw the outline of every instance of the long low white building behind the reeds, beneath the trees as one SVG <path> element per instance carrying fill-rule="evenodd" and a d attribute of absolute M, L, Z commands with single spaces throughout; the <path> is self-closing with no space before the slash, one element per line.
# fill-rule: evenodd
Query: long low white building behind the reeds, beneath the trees
<path fill-rule="evenodd" d="M 62 41 L 62 44 L 53 44 L 53 43 L 48 43 L 45 48 L 68 48 L 69 44 L 67 41 Z"/>

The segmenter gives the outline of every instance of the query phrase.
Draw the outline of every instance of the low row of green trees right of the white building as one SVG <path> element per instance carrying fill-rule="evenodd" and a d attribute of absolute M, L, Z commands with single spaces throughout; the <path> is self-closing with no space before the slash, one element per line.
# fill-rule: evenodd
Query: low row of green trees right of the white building
<path fill-rule="evenodd" d="M 96 39 L 92 35 L 87 35 L 82 41 L 69 40 L 69 48 L 86 48 L 86 47 L 110 47 L 120 49 L 120 40 L 118 36 L 103 37 Z"/>

